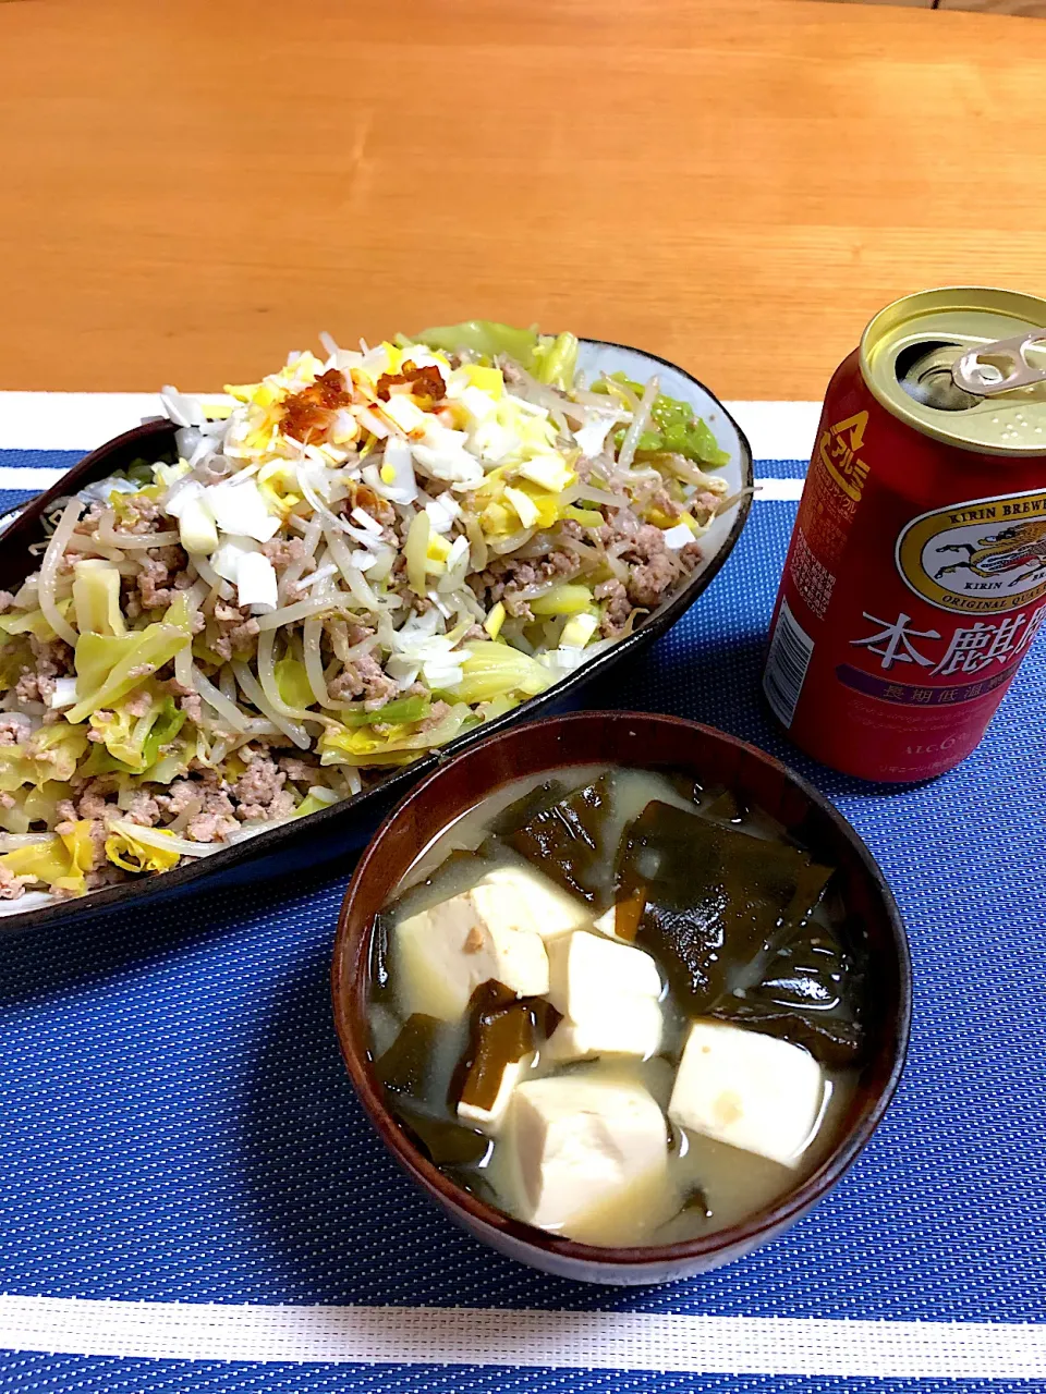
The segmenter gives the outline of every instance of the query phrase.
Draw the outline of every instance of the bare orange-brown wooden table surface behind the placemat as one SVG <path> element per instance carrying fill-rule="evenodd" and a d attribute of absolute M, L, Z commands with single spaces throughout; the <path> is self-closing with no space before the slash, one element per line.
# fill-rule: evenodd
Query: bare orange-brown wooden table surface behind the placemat
<path fill-rule="evenodd" d="M 819 397 L 1046 291 L 1046 24 L 801 0 L 0 3 L 0 386 L 187 389 L 473 315 Z"/>

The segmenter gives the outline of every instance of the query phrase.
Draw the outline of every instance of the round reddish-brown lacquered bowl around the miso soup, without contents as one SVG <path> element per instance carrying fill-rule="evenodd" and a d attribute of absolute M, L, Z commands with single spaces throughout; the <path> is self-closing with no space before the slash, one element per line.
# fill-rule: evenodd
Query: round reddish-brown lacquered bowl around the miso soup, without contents
<path fill-rule="evenodd" d="M 570 765 L 681 771 L 761 806 L 819 857 L 867 948 L 869 1041 L 834 1149 L 810 1175 L 743 1224 L 683 1243 L 596 1248 L 513 1220 L 462 1190 L 411 1143 L 385 1107 L 368 1027 L 370 944 L 377 912 L 432 839 L 513 779 Z M 516 726 L 450 760 L 418 783 L 367 846 L 342 905 L 332 969 L 338 1036 L 360 1100 L 396 1161 L 483 1243 L 545 1273 L 586 1282 L 669 1282 L 731 1263 L 782 1234 L 831 1190 L 883 1118 L 904 1069 L 912 980 L 894 898 L 865 843 L 831 804 L 778 761 L 721 730 L 647 712 L 582 712 Z"/>

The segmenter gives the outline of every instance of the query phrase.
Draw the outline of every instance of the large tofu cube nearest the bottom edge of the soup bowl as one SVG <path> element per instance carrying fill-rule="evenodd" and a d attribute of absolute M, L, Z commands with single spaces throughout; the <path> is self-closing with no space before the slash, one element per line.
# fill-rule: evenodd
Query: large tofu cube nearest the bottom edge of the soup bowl
<path fill-rule="evenodd" d="M 527 1220 L 561 1230 L 664 1170 L 665 1121 L 642 1085 L 561 1075 L 519 1085 L 509 1117 Z"/>

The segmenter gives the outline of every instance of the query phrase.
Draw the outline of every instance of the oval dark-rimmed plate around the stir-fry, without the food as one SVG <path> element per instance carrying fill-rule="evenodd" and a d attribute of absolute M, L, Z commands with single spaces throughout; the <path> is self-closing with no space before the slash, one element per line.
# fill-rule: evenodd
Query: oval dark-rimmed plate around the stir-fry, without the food
<path fill-rule="evenodd" d="M 146 899 L 153 902 L 159 896 L 184 892 L 205 880 L 213 887 L 230 885 L 240 880 L 257 880 L 259 875 L 275 875 L 344 856 L 361 848 L 378 821 L 406 788 L 430 774 L 441 761 L 485 740 L 506 726 L 515 725 L 517 721 L 527 721 L 554 707 L 575 705 L 582 687 L 605 675 L 622 659 L 635 658 L 664 634 L 693 605 L 741 537 L 752 505 L 752 449 L 741 427 L 722 403 L 696 378 L 665 358 L 658 358 L 655 354 L 639 348 L 628 348 L 623 344 L 583 339 L 579 368 L 589 375 L 590 381 L 600 372 L 619 369 L 623 369 L 629 378 L 642 382 L 647 382 L 657 374 L 661 389 L 672 397 L 689 401 L 697 415 L 703 417 L 715 434 L 720 447 L 729 453 L 729 463 L 717 473 L 728 481 L 731 495 L 741 495 L 739 502 L 718 517 L 702 539 L 704 559 L 682 590 L 642 620 L 632 634 L 615 644 L 614 648 L 583 664 L 569 677 L 555 683 L 540 696 L 529 698 L 503 717 L 457 736 L 442 750 L 423 756 L 410 765 L 392 769 L 354 797 L 329 809 L 321 809 L 305 818 L 278 824 L 265 832 L 255 834 L 245 842 L 208 853 L 197 861 L 183 863 L 162 875 L 124 881 L 93 891 L 82 899 L 36 905 L 24 912 L 11 909 L 0 914 L 0 933 L 14 933 L 71 919 L 81 921 L 106 910 L 141 907 Z M 0 588 L 17 590 L 39 565 L 39 559 L 32 556 L 28 548 L 32 542 L 39 542 L 43 538 L 40 520 L 54 499 L 75 493 L 77 489 L 93 480 L 102 480 L 135 460 L 162 460 L 165 457 L 174 457 L 174 427 L 169 421 L 146 421 L 88 454 L 53 488 L 33 499 L 0 534 Z"/>

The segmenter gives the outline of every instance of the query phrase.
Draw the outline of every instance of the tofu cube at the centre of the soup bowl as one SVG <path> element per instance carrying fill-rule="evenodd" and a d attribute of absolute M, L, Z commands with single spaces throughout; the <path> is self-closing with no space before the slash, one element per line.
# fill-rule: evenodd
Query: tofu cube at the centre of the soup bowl
<path fill-rule="evenodd" d="M 661 976 L 643 949 L 582 930 L 548 944 L 548 999 L 573 1022 L 601 1016 L 622 997 L 660 995 Z"/>

